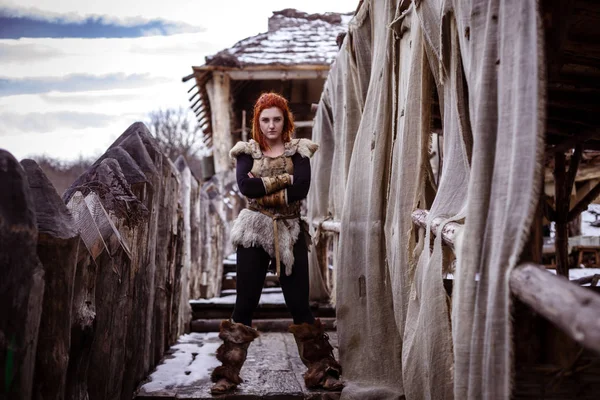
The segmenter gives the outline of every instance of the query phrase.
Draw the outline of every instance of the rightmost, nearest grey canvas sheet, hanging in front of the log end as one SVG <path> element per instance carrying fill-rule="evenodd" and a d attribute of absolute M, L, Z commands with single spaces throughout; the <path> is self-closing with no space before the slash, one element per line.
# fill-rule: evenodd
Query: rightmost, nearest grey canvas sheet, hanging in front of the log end
<path fill-rule="evenodd" d="M 543 173 L 546 85 L 537 7 L 535 0 L 453 1 L 473 132 L 452 302 L 457 399 L 510 396 L 508 278 L 527 241 Z"/>

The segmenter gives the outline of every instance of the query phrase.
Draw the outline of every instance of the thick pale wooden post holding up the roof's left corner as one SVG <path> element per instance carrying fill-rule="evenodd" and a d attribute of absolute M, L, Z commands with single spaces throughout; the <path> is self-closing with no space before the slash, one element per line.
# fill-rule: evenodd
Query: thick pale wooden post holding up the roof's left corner
<path fill-rule="evenodd" d="M 214 71 L 212 80 L 207 82 L 213 128 L 213 156 L 215 172 L 232 169 L 229 150 L 233 146 L 231 139 L 231 103 L 229 96 L 231 82 L 229 75 Z"/>

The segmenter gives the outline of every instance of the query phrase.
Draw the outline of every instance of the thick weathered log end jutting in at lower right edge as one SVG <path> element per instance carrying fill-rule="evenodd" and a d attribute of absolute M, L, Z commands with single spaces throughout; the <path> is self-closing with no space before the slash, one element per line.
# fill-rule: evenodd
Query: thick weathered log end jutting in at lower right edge
<path fill-rule="evenodd" d="M 600 353 L 600 296 L 567 279 L 523 264 L 510 274 L 511 292 L 581 345 Z"/>

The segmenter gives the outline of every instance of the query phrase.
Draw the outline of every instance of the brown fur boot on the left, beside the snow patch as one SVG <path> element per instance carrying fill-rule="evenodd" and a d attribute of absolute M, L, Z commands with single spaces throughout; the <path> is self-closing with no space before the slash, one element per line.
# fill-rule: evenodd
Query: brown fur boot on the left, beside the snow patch
<path fill-rule="evenodd" d="M 248 346 L 257 337 L 256 329 L 229 320 L 221 322 L 219 338 L 223 344 L 217 349 L 217 360 L 223 365 L 215 368 L 211 374 L 211 380 L 215 382 L 211 393 L 225 393 L 242 383 L 240 370 L 246 361 Z"/>

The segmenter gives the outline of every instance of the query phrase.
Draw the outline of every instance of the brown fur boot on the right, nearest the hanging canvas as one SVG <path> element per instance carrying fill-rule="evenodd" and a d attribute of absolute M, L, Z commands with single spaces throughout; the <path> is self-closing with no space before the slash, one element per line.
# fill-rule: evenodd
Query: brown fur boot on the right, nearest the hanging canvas
<path fill-rule="evenodd" d="M 333 347 L 321 321 L 317 318 L 312 325 L 291 325 L 289 331 L 296 339 L 300 359 L 308 367 L 304 373 L 306 387 L 341 390 L 344 387 L 340 380 L 342 367 L 333 356 Z"/>

